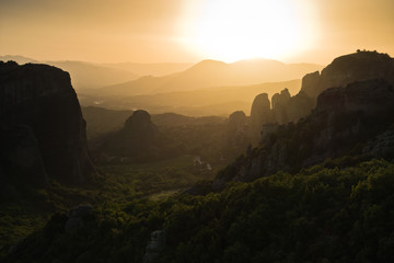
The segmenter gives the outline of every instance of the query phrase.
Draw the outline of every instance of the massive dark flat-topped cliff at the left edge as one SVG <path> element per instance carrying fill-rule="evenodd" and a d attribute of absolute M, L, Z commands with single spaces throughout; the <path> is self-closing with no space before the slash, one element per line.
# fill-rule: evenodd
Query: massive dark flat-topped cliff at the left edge
<path fill-rule="evenodd" d="M 13 129 L 27 141 L 36 140 L 36 146 L 30 144 L 34 148 L 30 155 L 37 163 L 42 160 L 42 170 L 49 178 L 67 184 L 90 180 L 94 169 L 88 155 L 85 122 L 67 72 L 46 65 L 1 62 L 0 123 L 3 130 Z M 32 133 L 25 132 L 28 129 Z M 9 138 L 7 133 L 2 135 Z M 18 148 L 9 145 L 2 156 L 11 157 Z M 3 176 L 13 173 L 10 162 L 5 158 L 2 163 Z"/>

